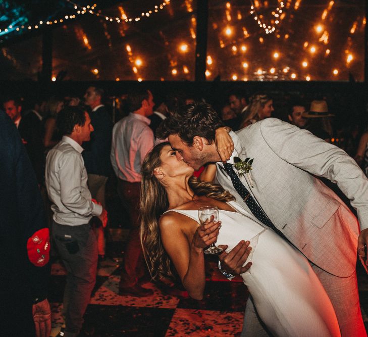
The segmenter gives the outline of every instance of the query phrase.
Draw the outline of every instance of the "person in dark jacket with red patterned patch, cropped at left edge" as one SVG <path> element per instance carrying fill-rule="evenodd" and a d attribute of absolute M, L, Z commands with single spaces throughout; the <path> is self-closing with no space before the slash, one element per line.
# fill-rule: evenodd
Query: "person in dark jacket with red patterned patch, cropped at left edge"
<path fill-rule="evenodd" d="M 1 336 L 48 337 L 49 231 L 36 175 L 14 122 L 0 112 Z"/>

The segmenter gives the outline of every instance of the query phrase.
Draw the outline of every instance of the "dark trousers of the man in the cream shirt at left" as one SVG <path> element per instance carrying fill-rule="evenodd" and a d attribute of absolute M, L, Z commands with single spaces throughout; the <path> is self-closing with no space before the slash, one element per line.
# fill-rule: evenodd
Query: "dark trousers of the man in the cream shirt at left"
<path fill-rule="evenodd" d="M 68 271 L 63 316 L 68 336 L 77 336 L 96 282 L 97 242 L 89 224 L 60 225 L 52 222 L 52 237 Z"/>

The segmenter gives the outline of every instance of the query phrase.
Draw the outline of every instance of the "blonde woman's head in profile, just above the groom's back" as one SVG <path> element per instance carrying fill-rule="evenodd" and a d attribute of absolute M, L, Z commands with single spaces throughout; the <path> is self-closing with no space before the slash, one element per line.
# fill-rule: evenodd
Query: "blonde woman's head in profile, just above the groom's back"
<path fill-rule="evenodd" d="M 242 129 L 262 119 L 271 117 L 271 113 L 273 111 L 273 100 L 269 97 L 269 95 L 264 93 L 254 94 L 249 99 L 249 105 L 244 113 L 244 118 L 239 129 Z"/>

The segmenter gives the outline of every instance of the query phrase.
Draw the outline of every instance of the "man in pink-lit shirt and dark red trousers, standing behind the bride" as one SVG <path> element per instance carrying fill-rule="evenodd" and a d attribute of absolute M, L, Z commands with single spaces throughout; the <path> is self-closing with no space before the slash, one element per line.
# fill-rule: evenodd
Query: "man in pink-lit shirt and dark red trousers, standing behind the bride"
<path fill-rule="evenodd" d="M 111 148 L 111 163 L 118 177 L 118 194 L 130 215 L 131 230 L 124 254 L 119 284 L 121 295 L 149 296 L 153 292 L 138 284 L 144 275 L 144 263 L 139 239 L 139 192 L 143 159 L 153 148 L 153 132 L 148 116 L 153 113 L 153 96 L 149 90 L 137 89 L 128 95 L 129 116 L 115 124 Z"/>

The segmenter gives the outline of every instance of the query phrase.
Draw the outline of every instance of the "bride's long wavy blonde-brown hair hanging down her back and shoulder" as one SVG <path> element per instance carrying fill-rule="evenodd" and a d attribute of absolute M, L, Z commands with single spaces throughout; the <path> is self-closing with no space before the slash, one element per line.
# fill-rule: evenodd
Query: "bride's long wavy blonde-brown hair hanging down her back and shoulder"
<path fill-rule="evenodd" d="M 149 273 L 152 279 L 157 281 L 177 278 L 175 268 L 163 247 L 159 227 L 160 216 L 169 208 L 168 195 L 163 184 L 153 174 L 153 170 L 161 166 L 161 152 L 167 145 L 170 143 L 156 145 L 145 157 L 141 170 L 140 240 Z M 222 202 L 235 200 L 220 185 L 201 182 L 194 176 L 189 179 L 189 186 L 197 196 L 206 196 Z"/>

